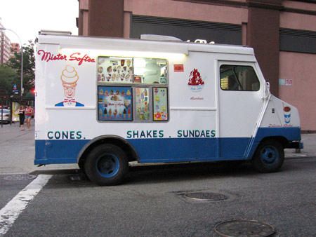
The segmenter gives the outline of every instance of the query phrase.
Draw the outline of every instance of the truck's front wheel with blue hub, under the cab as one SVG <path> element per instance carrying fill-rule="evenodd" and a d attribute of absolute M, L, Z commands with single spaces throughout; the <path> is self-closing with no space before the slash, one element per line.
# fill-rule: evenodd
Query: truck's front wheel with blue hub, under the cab
<path fill-rule="evenodd" d="M 262 142 L 254 154 L 252 164 L 258 172 L 276 172 L 284 162 L 282 144 L 275 140 Z"/>

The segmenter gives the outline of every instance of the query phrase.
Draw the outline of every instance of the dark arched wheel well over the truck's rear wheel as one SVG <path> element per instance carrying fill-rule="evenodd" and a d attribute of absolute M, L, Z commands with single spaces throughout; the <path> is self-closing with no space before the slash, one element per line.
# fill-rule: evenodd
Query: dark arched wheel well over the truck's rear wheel
<path fill-rule="evenodd" d="M 126 156 L 129 159 L 128 161 L 138 160 L 136 151 L 133 149 L 133 147 L 131 147 L 131 144 L 119 138 L 105 137 L 105 138 L 96 140 L 96 142 L 89 144 L 89 146 L 84 150 L 84 152 L 78 158 L 79 167 L 83 166 L 84 161 L 86 161 L 86 156 L 89 154 L 89 152 L 92 151 L 94 147 L 98 147 L 100 144 L 114 144 L 117 147 L 120 147 L 126 153 Z"/>

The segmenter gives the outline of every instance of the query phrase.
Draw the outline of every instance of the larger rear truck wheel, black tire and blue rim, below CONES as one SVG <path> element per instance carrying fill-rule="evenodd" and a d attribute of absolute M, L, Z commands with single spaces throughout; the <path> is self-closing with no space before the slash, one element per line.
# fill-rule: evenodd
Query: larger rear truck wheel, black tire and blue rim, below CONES
<path fill-rule="evenodd" d="M 100 186 L 120 184 L 128 167 L 125 152 L 113 144 L 103 144 L 94 148 L 84 164 L 88 179 Z"/>

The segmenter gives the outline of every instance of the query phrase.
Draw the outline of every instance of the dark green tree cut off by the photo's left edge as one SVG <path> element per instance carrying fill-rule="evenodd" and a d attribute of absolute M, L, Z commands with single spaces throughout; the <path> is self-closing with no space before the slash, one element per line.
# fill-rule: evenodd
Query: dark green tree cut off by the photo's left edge
<path fill-rule="evenodd" d="M 13 85 L 18 84 L 16 72 L 7 65 L 0 65 L 0 88 L 6 95 L 11 95 Z"/>

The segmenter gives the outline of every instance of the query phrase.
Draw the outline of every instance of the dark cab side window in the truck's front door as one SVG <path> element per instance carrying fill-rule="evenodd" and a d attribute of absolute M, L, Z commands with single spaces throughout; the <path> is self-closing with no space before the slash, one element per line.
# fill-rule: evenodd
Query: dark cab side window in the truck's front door
<path fill-rule="evenodd" d="M 220 88 L 222 90 L 258 91 L 260 82 L 253 67 L 221 65 Z"/>

